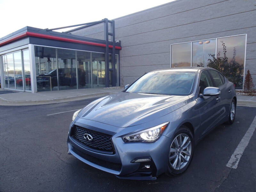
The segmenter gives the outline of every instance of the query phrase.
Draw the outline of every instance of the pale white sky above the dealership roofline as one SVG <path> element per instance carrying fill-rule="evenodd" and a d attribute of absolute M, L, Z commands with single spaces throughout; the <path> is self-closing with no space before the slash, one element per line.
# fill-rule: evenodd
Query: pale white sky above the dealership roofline
<path fill-rule="evenodd" d="M 25 26 L 44 29 L 111 20 L 171 1 L 174 0 L 0 0 L 0 37 Z"/>

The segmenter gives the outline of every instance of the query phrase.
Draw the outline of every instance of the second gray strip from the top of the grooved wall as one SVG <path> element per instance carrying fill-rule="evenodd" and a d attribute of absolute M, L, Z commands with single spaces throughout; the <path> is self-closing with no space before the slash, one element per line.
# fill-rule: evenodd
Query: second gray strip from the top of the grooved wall
<path fill-rule="evenodd" d="M 234 0 L 232 1 L 232 4 L 237 4 L 239 2 L 240 0 Z M 234 14 L 255 10 L 255 7 L 250 6 L 251 4 L 252 3 L 250 1 L 244 1 L 244 3 L 241 4 L 241 6 L 233 10 L 233 9 L 227 9 L 228 5 L 230 5 L 230 1 L 225 1 L 219 4 L 211 4 L 204 7 L 199 7 L 196 10 L 193 9 L 185 12 L 179 12 L 177 14 L 171 14 L 168 16 L 154 19 L 154 20 L 148 20 L 142 23 L 137 23 L 137 24 L 121 27 L 121 28 L 116 28 L 116 38 L 118 39 L 124 36 L 132 36 L 135 34 L 141 34 L 145 32 L 159 31 L 161 29 L 174 28 L 177 26 L 182 26 L 187 24 L 194 24 L 196 22 L 202 22 L 202 19 L 209 23 L 211 23 L 212 20 L 213 22 L 215 22 L 214 19 L 216 18 L 220 18 L 220 20 L 223 20 L 222 17 L 227 17 L 228 15 L 231 16 Z M 97 38 L 98 36 L 102 36 L 102 35 L 103 34 L 96 33 L 96 34 L 87 35 L 87 36 L 92 38 L 95 38 L 95 37 Z"/>

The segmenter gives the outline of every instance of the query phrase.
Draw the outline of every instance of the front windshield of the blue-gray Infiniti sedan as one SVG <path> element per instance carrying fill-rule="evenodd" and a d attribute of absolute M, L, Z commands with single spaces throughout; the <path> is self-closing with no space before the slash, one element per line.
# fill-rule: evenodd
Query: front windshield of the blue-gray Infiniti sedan
<path fill-rule="evenodd" d="M 192 71 L 149 72 L 135 81 L 126 92 L 159 95 L 189 95 L 195 80 Z"/>

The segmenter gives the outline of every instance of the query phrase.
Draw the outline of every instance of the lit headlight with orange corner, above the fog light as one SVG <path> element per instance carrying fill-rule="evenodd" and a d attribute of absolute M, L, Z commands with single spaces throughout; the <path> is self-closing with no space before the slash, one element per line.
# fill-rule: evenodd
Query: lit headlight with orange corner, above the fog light
<path fill-rule="evenodd" d="M 154 142 L 156 141 L 164 132 L 164 129 L 168 126 L 170 122 L 165 122 L 163 124 L 157 125 L 155 127 L 151 127 L 149 129 L 132 133 L 129 135 L 124 135 L 123 140 L 124 142 Z"/>

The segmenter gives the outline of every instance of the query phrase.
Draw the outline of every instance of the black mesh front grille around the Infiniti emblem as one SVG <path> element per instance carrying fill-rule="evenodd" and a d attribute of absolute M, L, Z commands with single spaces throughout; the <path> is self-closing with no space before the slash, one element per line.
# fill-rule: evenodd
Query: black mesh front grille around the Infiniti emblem
<path fill-rule="evenodd" d="M 92 135 L 92 140 L 88 141 L 84 138 L 84 134 Z M 101 151 L 107 151 L 114 153 L 111 137 L 112 135 L 108 135 L 106 133 L 94 131 L 91 129 L 87 129 L 84 127 L 80 127 L 78 125 L 74 125 L 72 135 L 75 140 L 84 144 L 85 146 Z"/>

